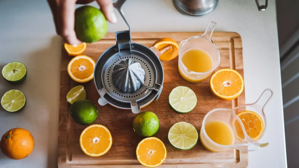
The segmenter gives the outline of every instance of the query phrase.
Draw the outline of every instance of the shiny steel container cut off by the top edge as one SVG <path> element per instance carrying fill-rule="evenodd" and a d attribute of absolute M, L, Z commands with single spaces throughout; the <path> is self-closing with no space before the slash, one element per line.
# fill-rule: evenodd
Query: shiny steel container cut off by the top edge
<path fill-rule="evenodd" d="M 173 0 L 174 6 L 186 15 L 202 16 L 212 12 L 219 0 Z"/>

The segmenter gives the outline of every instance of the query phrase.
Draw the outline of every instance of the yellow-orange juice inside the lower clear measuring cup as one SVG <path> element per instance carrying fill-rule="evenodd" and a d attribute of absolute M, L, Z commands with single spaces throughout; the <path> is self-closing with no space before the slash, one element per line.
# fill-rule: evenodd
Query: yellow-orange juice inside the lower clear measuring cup
<path fill-rule="evenodd" d="M 205 124 L 205 131 L 211 140 L 220 145 L 231 145 L 234 143 L 234 135 L 231 127 L 222 121 L 210 121 Z M 222 149 L 210 143 L 203 135 L 202 130 L 199 134 L 202 145 L 212 152 L 220 152 Z"/>

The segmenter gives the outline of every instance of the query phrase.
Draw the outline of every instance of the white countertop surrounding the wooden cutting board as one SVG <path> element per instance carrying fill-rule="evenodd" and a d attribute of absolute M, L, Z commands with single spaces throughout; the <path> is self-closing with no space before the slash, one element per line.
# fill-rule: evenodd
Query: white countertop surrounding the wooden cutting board
<path fill-rule="evenodd" d="M 96 3 L 92 5 L 97 6 Z M 269 146 L 249 152 L 248 167 L 286 167 L 280 61 L 274 1 L 258 11 L 254 0 L 222 0 L 201 17 L 179 13 L 171 0 L 128 0 L 123 11 L 135 31 L 204 31 L 210 21 L 215 31 L 235 31 L 242 37 L 246 103 L 253 103 L 266 88 L 274 91 L 265 113 L 268 126 L 260 142 Z M 109 32 L 127 27 L 115 10 L 118 23 Z M 9 89 L 22 90 L 27 106 L 21 113 L 0 109 L 0 136 L 15 127 L 28 129 L 35 139 L 31 155 L 11 160 L 0 152 L 0 167 L 57 167 L 60 56 L 62 39 L 45 0 L 0 1 L 0 68 L 21 61 L 28 69 L 26 81 L 12 86 L 0 78 L 0 96 Z"/>

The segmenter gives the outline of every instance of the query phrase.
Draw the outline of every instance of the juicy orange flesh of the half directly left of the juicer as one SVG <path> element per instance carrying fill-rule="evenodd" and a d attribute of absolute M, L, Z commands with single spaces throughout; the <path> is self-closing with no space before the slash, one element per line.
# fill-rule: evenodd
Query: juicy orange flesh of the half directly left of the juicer
<path fill-rule="evenodd" d="M 78 79 L 86 79 L 93 74 L 94 68 L 89 60 L 79 58 L 71 64 L 71 73 Z"/>

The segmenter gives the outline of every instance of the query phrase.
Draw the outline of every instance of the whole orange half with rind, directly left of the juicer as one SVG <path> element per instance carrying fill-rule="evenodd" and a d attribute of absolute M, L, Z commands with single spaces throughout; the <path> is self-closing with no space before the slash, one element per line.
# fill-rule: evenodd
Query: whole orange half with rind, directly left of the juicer
<path fill-rule="evenodd" d="M 86 55 L 78 55 L 68 63 L 68 75 L 80 83 L 88 82 L 94 78 L 94 60 Z"/>

